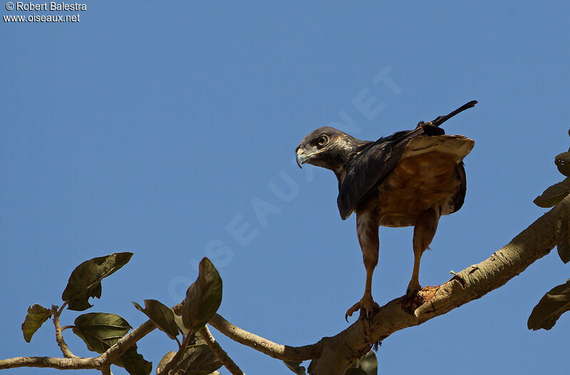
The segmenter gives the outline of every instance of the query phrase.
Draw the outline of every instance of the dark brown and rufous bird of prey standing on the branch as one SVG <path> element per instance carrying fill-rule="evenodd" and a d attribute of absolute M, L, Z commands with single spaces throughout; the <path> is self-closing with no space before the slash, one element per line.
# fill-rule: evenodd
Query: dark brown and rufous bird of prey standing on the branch
<path fill-rule="evenodd" d="M 366 287 L 346 319 L 358 310 L 368 320 L 373 315 L 372 274 L 378 264 L 380 226 L 414 227 L 414 265 L 406 295 L 421 289 L 420 258 L 435 236 L 440 216 L 454 213 L 463 204 L 467 182 L 462 160 L 475 144 L 462 135 L 446 135 L 439 126 L 476 103 L 473 100 L 449 115 L 418 123 L 415 130 L 395 132 L 376 142 L 319 127 L 297 146 L 299 167 L 313 164 L 336 175 L 341 218 L 356 213 Z"/>

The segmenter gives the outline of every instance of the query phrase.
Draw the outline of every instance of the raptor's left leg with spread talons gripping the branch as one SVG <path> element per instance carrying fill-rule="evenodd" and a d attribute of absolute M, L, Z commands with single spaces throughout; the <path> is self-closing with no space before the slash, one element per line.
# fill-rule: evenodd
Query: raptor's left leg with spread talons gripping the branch
<path fill-rule="evenodd" d="M 356 232 L 361 244 L 364 267 L 366 268 L 366 286 L 362 299 L 353 305 L 344 316 L 348 321 L 354 312 L 362 310 L 366 319 L 371 322 L 374 307 L 378 305 L 372 298 L 372 275 L 378 264 L 378 219 L 374 213 L 366 212 L 356 215 Z"/>

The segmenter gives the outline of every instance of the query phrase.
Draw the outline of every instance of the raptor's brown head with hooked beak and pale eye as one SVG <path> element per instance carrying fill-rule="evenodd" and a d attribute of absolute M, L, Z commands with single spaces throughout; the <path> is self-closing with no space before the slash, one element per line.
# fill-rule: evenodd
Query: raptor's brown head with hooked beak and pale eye
<path fill-rule="evenodd" d="M 356 153 L 363 141 L 333 127 L 319 127 L 307 134 L 295 149 L 297 164 L 305 163 L 331 169 L 337 175 Z"/>

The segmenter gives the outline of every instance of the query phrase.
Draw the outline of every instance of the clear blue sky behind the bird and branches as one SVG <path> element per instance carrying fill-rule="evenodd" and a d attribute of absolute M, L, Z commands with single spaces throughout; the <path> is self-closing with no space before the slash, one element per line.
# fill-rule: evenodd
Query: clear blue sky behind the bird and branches
<path fill-rule="evenodd" d="M 479 100 L 445 124 L 475 148 L 465 206 L 440 221 L 422 285 L 508 243 L 544 213 L 532 200 L 562 179 L 566 2 L 87 5 L 69 12 L 78 23 L 0 24 L 2 358 L 61 355 L 51 325 L 24 342 L 26 308 L 61 305 L 76 265 L 117 251 L 135 255 L 89 311 L 136 326 L 145 317 L 130 301 L 179 302 L 209 255 L 224 280 L 219 312 L 239 327 L 290 345 L 347 327 L 365 278 L 355 218 L 341 221 L 331 171 L 294 164 L 307 133 L 343 117 L 356 137 L 377 139 Z M 375 83 L 380 72 L 393 85 Z M 381 107 L 367 117 L 353 101 L 371 95 Z M 380 228 L 380 305 L 405 292 L 411 239 L 411 228 Z M 569 275 L 554 251 L 481 300 L 393 334 L 380 373 L 564 374 L 569 317 L 549 332 L 529 332 L 527 317 Z M 289 374 L 212 333 L 247 374 Z M 139 352 L 156 366 L 172 344 L 153 332 Z"/>

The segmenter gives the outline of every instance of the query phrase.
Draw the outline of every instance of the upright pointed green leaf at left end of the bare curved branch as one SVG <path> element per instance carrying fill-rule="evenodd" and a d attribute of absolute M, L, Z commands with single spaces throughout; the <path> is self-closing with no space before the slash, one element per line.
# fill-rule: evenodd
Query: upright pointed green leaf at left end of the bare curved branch
<path fill-rule="evenodd" d="M 197 330 L 212 319 L 222 303 L 222 278 L 208 258 L 199 263 L 198 278 L 186 291 L 182 302 L 182 322 Z"/>

